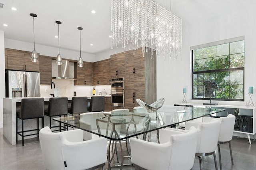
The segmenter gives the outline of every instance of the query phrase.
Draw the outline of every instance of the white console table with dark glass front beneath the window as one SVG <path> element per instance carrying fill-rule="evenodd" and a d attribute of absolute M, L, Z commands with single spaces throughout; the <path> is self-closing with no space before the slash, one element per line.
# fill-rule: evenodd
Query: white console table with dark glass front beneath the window
<path fill-rule="evenodd" d="M 237 105 L 202 105 L 199 103 L 175 103 L 174 106 L 208 106 L 211 108 L 225 109 L 220 113 L 212 115 L 212 117 L 226 117 L 228 114 L 236 116 L 234 132 L 246 134 L 251 144 L 250 134 L 256 134 L 256 107 L 237 106 Z"/>

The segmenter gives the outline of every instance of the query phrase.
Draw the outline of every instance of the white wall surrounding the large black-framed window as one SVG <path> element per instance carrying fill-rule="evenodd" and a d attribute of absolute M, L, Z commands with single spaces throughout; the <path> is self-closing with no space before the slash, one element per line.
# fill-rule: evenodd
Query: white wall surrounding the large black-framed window
<path fill-rule="evenodd" d="M 254 6 L 234 11 L 233 13 L 212 18 L 207 21 L 198 21 L 193 25 L 183 27 L 182 59 L 172 60 L 171 63 L 157 61 L 157 98 L 164 97 L 165 105 L 181 103 L 182 88 L 186 87 L 188 103 L 204 103 L 205 101 L 190 100 L 191 85 L 191 58 L 190 47 L 204 43 L 216 42 L 229 38 L 245 36 L 245 71 L 244 71 L 244 102 L 223 101 L 219 104 L 246 105 L 249 101 L 248 87 L 256 90 L 256 56 L 255 56 L 255 18 Z M 253 95 L 256 103 L 256 95 Z M 213 102 L 214 103 L 214 102 Z"/>

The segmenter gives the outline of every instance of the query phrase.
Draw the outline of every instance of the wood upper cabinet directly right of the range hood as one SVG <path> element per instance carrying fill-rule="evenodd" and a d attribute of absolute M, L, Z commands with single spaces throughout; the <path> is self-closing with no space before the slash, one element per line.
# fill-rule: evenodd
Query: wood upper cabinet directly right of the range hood
<path fill-rule="evenodd" d="M 74 85 L 92 85 L 92 63 L 84 61 L 84 66 L 78 67 L 75 62 L 74 76 L 77 77 L 77 80 L 74 80 Z"/>

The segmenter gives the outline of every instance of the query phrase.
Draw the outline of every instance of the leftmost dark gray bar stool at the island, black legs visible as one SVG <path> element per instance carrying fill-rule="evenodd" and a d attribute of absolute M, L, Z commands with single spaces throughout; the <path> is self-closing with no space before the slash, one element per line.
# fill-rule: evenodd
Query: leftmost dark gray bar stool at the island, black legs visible
<path fill-rule="evenodd" d="M 18 131 L 18 118 L 22 120 L 22 131 Z M 24 120 L 36 119 L 37 129 L 24 130 Z M 24 146 L 24 137 L 39 134 L 39 118 L 42 118 L 42 127 L 44 127 L 44 99 L 21 99 L 20 112 L 16 117 L 16 141 L 18 141 L 18 135 L 22 136 L 22 146 Z M 24 135 L 24 132 L 30 132 L 37 130 L 37 133 Z"/>

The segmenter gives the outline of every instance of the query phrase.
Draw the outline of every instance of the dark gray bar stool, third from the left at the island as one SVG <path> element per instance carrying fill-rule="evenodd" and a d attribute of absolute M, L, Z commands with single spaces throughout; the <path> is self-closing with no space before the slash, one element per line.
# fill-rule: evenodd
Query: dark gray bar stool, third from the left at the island
<path fill-rule="evenodd" d="M 87 97 L 72 97 L 71 107 L 68 110 L 68 113 L 80 114 L 87 112 Z"/>

